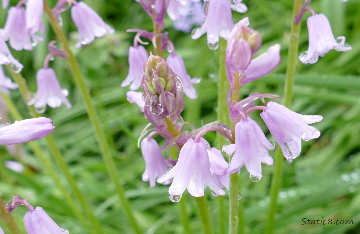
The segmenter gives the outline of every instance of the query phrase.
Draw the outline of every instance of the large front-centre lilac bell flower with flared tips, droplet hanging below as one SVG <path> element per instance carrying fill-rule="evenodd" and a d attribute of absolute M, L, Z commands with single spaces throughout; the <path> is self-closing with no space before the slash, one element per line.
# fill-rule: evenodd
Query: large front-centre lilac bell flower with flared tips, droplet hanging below
<path fill-rule="evenodd" d="M 211 176 L 209 155 L 203 141 L 187 141 L 180 150 L 176 165 L 157 181 L 162 183 L 173 177 L 169 188 L 170 197 L 180 196 L 186 188 L 192 196 L 201 197 L 207 186 L 215 193 L 225 195 L 225 191 L 217 186 Z"/>

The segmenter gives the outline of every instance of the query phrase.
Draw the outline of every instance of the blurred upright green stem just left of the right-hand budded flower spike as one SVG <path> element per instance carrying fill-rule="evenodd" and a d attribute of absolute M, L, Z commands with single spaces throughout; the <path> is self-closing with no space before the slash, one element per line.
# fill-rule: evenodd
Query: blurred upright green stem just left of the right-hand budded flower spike
<path fill-rule="evenodd" d="M 225 53 L 226 53 L 226 45 L 228 42 L 220 38 L 219 41 L 219 81 L 217 82 L 217 119 L 220 123 L 224 123 L 227 126 L 230 126 L 230 118 L 229 118 L 229 108 L 228 103 L 226 102 L 226 94 L 228 93 L 228 89 L 230 88 L 230 84 L 228 81 L 228 76 L 226 75 L 226 61 L 225 61 Z M 226 139 L 221 134 L 216 134 L 216 147 L 219 150 L 222 150 L 222 146 L 226 145 Z M 224 215 L 225 209 L 223 206 L 224 198 L 219 196 L 218 203 L 220 207 L 219 214 L 219 230 L 220 233 L 225 233 L 225 223 L 226 216 Z"/>

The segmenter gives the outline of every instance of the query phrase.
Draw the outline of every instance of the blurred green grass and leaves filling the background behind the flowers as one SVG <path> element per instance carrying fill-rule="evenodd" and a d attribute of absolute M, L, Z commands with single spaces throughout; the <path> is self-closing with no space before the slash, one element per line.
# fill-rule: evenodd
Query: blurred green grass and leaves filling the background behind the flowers
<path fill-rule="evenodd" d="M 48 1 L 50 6 L 55 0 Z M 157 184 L 149 188 L 141 181 L 145 163 L 137 148 L 137 138 L 147 125 L 143 114 L 135 105 L 126 101 L 129 88 L 121 88 L 120 83 L 127 75 L 127 51 L 132 45 L 133 33 L 129 28 L 152 30 L 152 23 L 141 5 L 132 0 L 85 0 L 110 25 L 116 29 L 112 35 L 96 38 L 93 43 L 75 48 L 77 31 L 72 23 L 69 11 L 63 13 L 64 31 L 73 46 L 81 70 L 87 80 L 87 88 L 98 108 L 103 128 L 114 151 L 119 180 L 125 186 L 136 219 L 144 233 L 182 233 L 180 204 L 168 199 L 168 186 Z M 263 45 L 257 54 L 265 52 L 275 43 L 282 46 L 282 63 L 265 78 L 245 85 L 240 92 L 246 97 L 252 92 L 283 94 L 284 73 L 287 61 L 288 35 L 291 24 L 292 1 L 287 0 L 244 0 L 249 11 L 246 14 L 233 13 L 235 21 L 249 17 L 250 27 L 258 30 Z M 12 0 L 11 5 L 17 1 Z M 323 121 L 313 126 L 321 131 L 319 139 L 303 141 L 302 154 L 292 164 L 284 159 L 284 176 L 279 194 L 278 213 L 275 216 L 274 233 L 360 233 L 360 3 L 339 0 L 314 0 L 310 4 L 317 13 L 329 18 L 335 37 L 346 36 L 346 42 L 353 49 L 349 52 L 330 51 L 316 64 L 304 65 L 300 62 L 294 86 L 294 100 L 291 109 L 301 114 L 318 114 Z M 299 52 L 307 50 L 308 32 L 305 13 L 302 20 Z M 6 10 L 0 9 L 0 26 L 6 20 Z M 55 38 L 44 16 L 46 28 L 45 40 L 39 42 L 32 52 L 13 51 L 14 57 L 24 65 L 22 75 L 26 78 L 31 91 L 36 91 L 35 74 L 42 67 L 47 51 L 47 43 Z M 207 48 L 206 37 L 194 41 L 189 34 L 177 32 L 172 28 L 171 20 L 166 16 L 166 29 L 174 42 L 176 53 L 183 56 L 188 73 L 192 77 L 202 77 L 195 85 L 199 98 L 185 98 L 185 121 L 191 121 L 199 127 L 203 123 L 216 120 L 216 81 L 219 62 L 218 52 Z M 150 51 L 152 48 L 146 46 Z M 257 55 L 256 55 L 257 56 Z M 62 87 L 69 90 L 71 109 L 48 108 L 44 116 L 50 117 L 57 127 L 52 133 L 69 164 L 78 187 L 90 203 L 94 214 L 100 220 L 104 233 L 132 233 L 124 216 L 121 204 L 114 192 L 105 170 L 102 157 L 84 104 L 75 87 L 67 62 L 55 58 L 50 63 L 57 72 Z M 18 90 L 12 91 L 12 98 L 24 118 L 30 117 L 26 105 Z M 262 120 L 252 114 L 263 130 L 267 132 Z M 10 116 L 10 119 L 12 117 Z M 210 142 L 215 134 L 205 136 Z M 270 139 L 270 134 L 268 134 Z M 46 151 L 46 142 L 39 140 Z M 5 160 L 12 156 L 1 146 L 0 157 L 0 193 L 5 202 L 19 194 L 26 197 L 33 206 L 41 206 L 59 224 L 71 234 L 85 234 L 77 217 L 69 212 L 67 202 L 54 181 L 43 170 L 37 156 L 27 144 L 25 160 L 27 170 L 15 173 L 5 168 Z M 273 154 L 273 152 L 270 152 Z M 249 179 L 246 169 L 240 173 L 242 201 L 245 207 L 247 233 L 264 233 L 267 205 L 269 203 L 269 184 L 273 167 L 262 165 L 263 178 L 257 183 Z M 53 168 L 58 172 L 57 168 Z M 59 177 L 66 184 L 64 176 Z M 218 198 L 207 191 L 211 218 L 216 233 L 219 233 Z M 226 195 L 227 196 L 227 195 Z M 225 196 L 225 200 L 226 200 Z M 201 232 L 198 210 L 194 199 L 184 193 L 190 227 L 193 233 Z M 226 208 L 225 202 L 225 208 Z M 25 207 L 19 207 L 12 214 L 24 230 L 22 218 Z M 306 219 L 348 219 L 350 225 L 302 225 Z M 216 224 L 216 225 L 215 225 Z M 0 225 L 5 228 L 4 224 Z M 226 224 L 225 224 L 226 225 Z M 5 233 L 6 233 L 6 229 Z"/>

